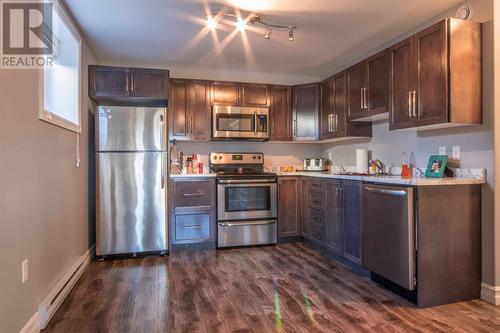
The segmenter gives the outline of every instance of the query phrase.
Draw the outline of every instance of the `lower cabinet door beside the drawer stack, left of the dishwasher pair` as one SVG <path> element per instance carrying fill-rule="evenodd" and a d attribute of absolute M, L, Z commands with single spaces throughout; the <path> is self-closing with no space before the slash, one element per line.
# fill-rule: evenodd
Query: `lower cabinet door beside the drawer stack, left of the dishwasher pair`
<path fill-rule="evenodd" d="M 336 254 L 342 253 L 341 184 L 330 180 L 326 183 L 326 247 Z"/>

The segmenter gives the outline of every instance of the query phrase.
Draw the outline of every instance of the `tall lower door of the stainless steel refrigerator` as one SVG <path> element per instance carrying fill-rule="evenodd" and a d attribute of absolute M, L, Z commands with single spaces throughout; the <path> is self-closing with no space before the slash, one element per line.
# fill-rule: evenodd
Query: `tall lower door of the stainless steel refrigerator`
<path fill-rule="evenodd" d="M 165 251 L 165 153 L 98 153 L 97 255 Z"/>

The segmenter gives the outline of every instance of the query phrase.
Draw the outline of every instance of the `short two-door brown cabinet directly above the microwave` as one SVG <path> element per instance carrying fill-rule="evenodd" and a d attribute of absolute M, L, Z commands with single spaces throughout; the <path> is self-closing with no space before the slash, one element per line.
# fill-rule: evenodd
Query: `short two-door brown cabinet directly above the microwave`
<path fill-rule="evenodd" d="M 212 103 L 234 106 L 269 107 L 267 84 L 215 81 L 212 83 Z"/>

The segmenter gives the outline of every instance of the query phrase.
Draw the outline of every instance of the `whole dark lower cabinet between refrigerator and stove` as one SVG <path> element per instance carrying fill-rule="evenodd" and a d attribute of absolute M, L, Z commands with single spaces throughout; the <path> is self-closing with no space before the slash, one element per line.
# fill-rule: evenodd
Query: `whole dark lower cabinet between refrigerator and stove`
<path fill-rule="evenodd" d="M 172 179 L 170 193 L 171 250 L 215 248 L 215 179 Z"/>

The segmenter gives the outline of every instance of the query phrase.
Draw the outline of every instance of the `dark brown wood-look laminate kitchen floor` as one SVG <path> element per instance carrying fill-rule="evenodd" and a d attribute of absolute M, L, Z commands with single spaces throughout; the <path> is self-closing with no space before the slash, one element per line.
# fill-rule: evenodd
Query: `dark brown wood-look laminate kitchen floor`
<path fill-rule="evenodd" d="M 417 309 L 301 243 L 92 262 L 45 332 L 499 332 L 480 300 Z"/>

